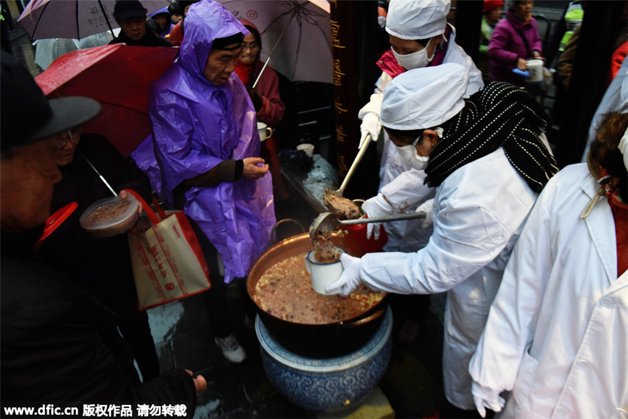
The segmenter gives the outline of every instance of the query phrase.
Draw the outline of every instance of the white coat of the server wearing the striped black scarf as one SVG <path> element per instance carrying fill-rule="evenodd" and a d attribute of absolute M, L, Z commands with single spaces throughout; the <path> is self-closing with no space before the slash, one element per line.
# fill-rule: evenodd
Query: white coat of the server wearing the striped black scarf
<path fill-rule="evenodd" d="M 434 232 L 426 247 L 361 258 L 361 280 L 372 288 L 397 294 L 448 291 L 444 390 L 461 409 L 474 409 L 469 360 L 536 197 L 498 148 L 457 169 L 436 188 Z M 395 201 L 394 196 L 387 199 Z"/>

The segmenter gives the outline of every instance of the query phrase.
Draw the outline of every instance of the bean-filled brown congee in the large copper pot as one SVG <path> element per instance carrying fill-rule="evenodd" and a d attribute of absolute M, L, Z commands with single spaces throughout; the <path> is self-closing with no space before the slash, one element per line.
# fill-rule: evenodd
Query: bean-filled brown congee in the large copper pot
<path fill-rule="evenodd" d="M 305 266 L 306 253 L 278 261 L 255 284 L 253 300 L 268 314 L 294 323 L 324 324 L 362 314 L 384 298 L 360 284 L 346 297 L 325 296 L 312 289 Z"/>

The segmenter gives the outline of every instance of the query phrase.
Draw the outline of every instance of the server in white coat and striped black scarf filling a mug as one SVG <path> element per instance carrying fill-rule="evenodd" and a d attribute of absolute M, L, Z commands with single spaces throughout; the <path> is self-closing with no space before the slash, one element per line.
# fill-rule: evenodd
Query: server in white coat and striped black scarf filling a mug
<path fill-rule="evenodd" d="M 469 360 L 522 224 L 558 168 L 539 139 L 548 121 L 532 96 L 494 82 L 464 100 L 467 83 L 468 70 L 447 63 L 410 70 L 388 86 L 382 124 L 412 164 L 428 160 L 434 233 L 418 252 L 343 255 L 343 275 L 327 291 L 347 295 L 360 282 L 396 294 L 447 291 L 444 391 L 454 406 L 473 410 Z M 380 194 L 380 203 L 419 204 L 410 191 L 422 180 L 408 182 L 419 172 L 403 174 L 405 192 Z"/>

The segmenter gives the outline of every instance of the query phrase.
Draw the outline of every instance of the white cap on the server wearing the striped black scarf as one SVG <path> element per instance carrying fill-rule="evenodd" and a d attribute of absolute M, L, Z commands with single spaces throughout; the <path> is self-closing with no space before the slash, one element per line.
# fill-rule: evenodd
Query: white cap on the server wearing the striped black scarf
<path fill-rule="evenodd" d="M 384 89 L 380 122 L 395 130 L 438 126 L 465 107 L 468 84 L 469 71 L 456 63 L 408 70 Z"/>

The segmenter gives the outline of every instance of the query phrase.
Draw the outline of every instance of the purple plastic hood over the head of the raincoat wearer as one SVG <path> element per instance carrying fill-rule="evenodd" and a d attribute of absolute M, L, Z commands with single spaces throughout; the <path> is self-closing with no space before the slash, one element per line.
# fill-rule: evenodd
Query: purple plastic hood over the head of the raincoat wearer
<path fill-rule="evenodd" d="M 181 43 L 179 63 L 190 75 L 204 78 L 203 70 L 214 40 L 236 33 L 246 36 L 248 29 L 222 4 L 212 0 L 194 3 L 186 16 L 186 35 Z"/>

